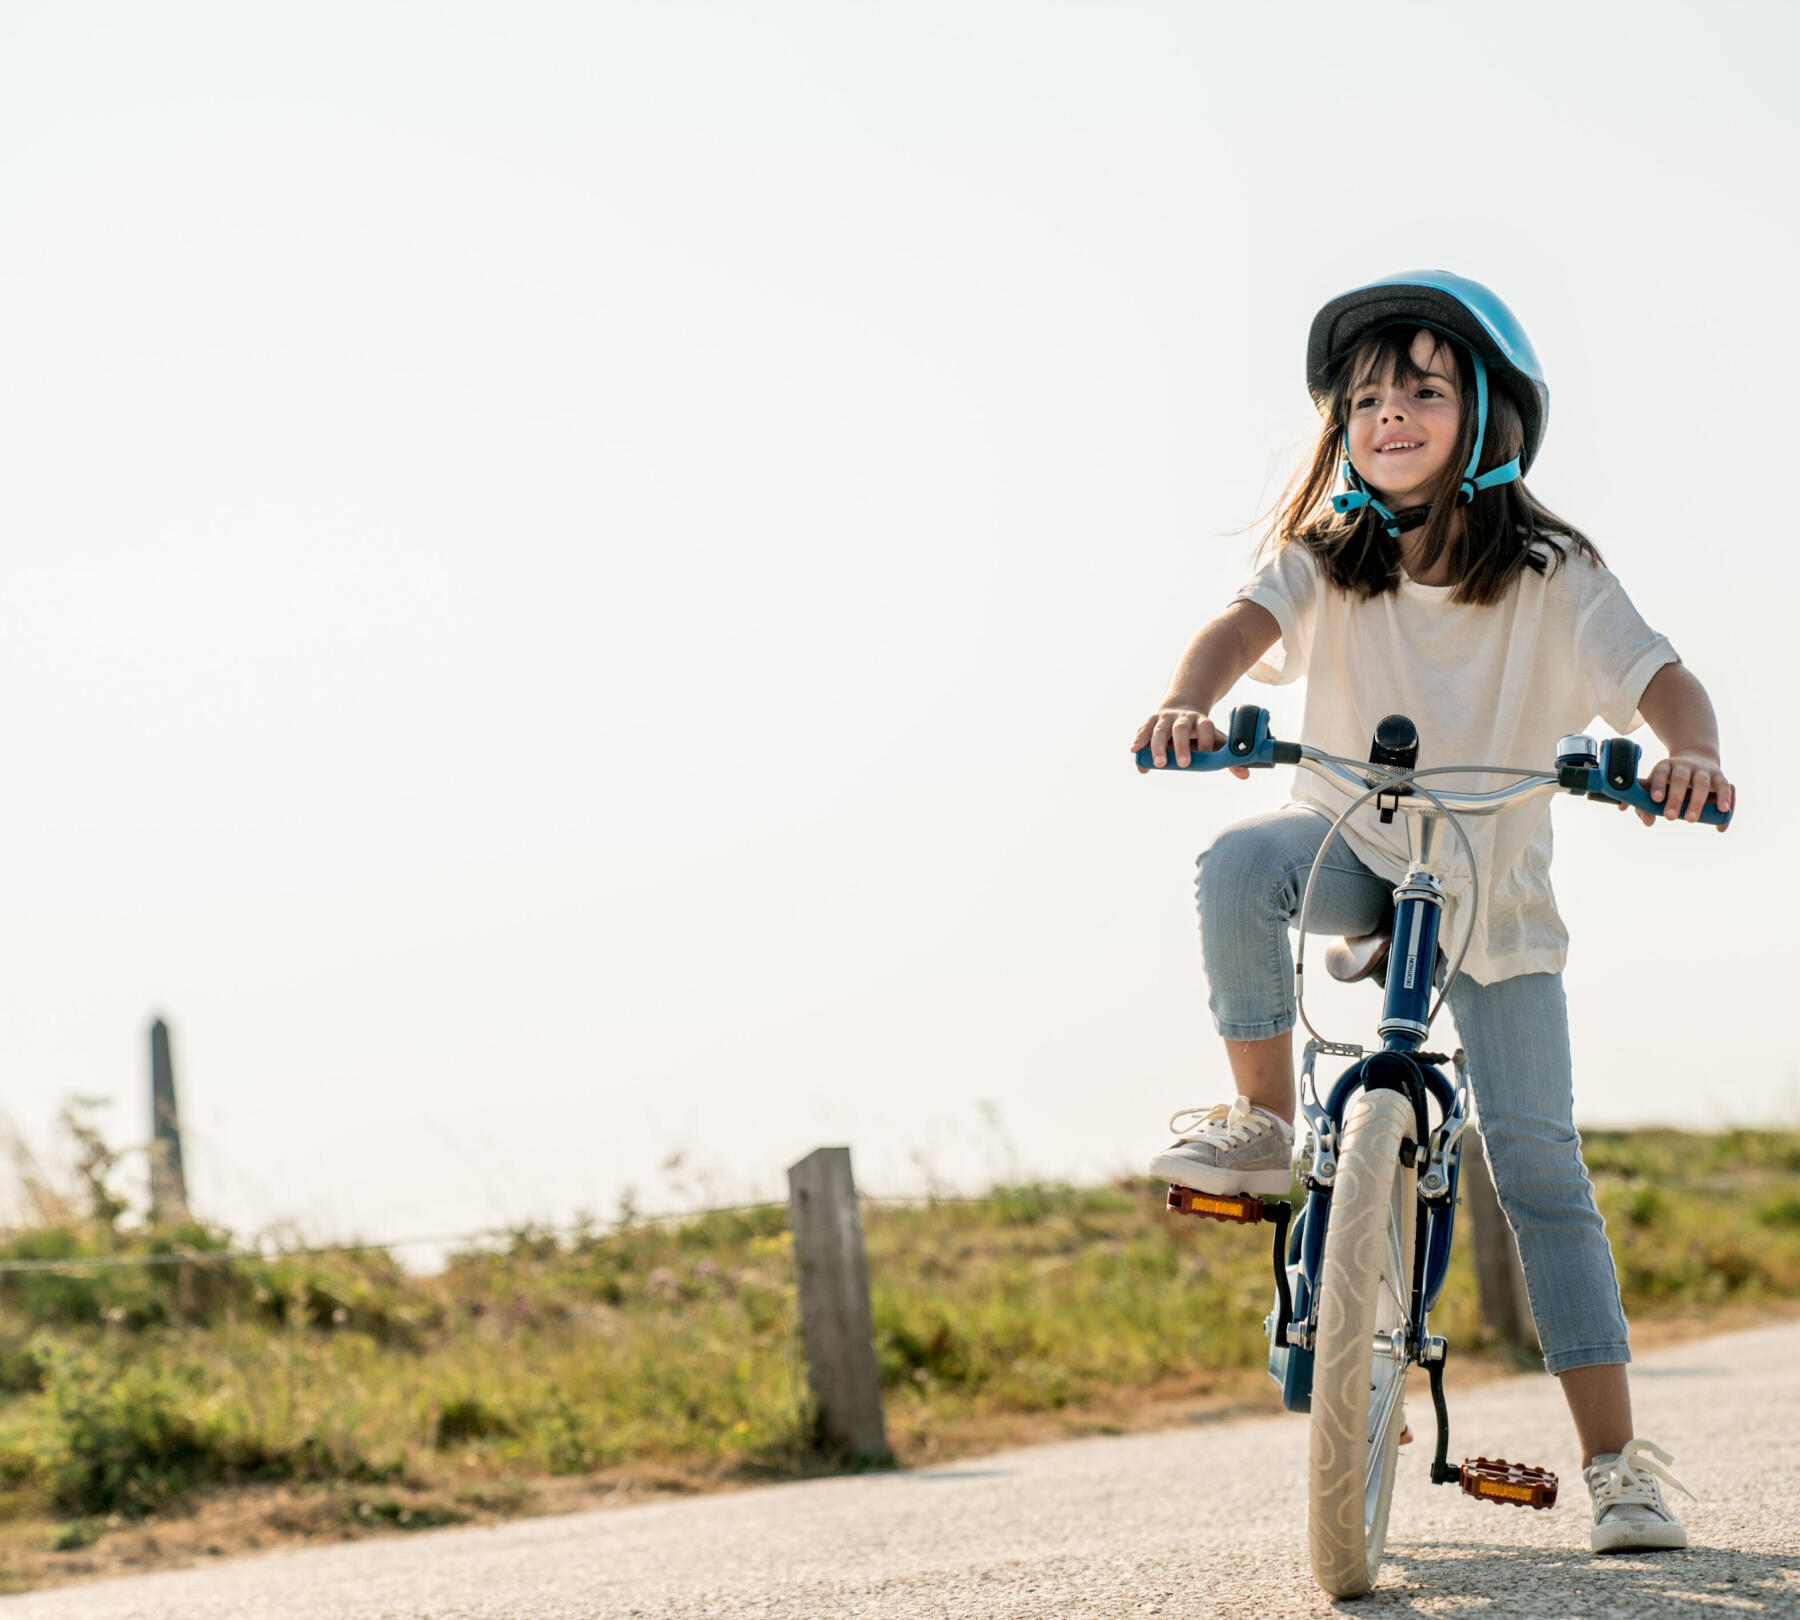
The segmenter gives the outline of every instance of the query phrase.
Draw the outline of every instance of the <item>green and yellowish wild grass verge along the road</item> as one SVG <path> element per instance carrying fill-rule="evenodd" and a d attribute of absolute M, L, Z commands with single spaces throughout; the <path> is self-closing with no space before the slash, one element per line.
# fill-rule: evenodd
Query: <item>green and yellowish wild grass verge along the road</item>
<path fill-rule="evenodd" d="M 1597 1130 L 1586 1150 L 1636 1321 L 1800 1300 L 1800 1132 Z M 1170 1217 L 1134 1181 L 869 1204 L 864 1229 L 902 1463 L 1274 1406 L 1267 1228 Z M 227 1244 L 70 1220 L 0 1235 L 0 1258 Z M 1516 1364 L 1481 1332 L 1467 1244 L 1433 1323 L 1460 1366 Z M 493 1519 L 630 1480 L 830 1471 L 812 1436 L 779 1206 L 520 1231 L 436 1276 L 383 1253 L 0 1274 L 13 1586 Z M 230 1519 L 230 1503 L 257 1507 Z"/>

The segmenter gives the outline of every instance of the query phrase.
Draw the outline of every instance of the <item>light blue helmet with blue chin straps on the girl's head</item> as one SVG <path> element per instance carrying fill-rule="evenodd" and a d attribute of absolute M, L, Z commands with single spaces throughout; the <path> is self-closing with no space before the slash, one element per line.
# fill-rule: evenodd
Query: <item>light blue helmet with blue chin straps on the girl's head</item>
<path fill-rule="evenodd" d="M 1399 324 L 1440 331 L 1463 344 L 1474 358 L 1474 452 L 1463 470 L 1458 502 L 1467 504 L 1474 500 L 1478 490 L 1492 490 L 1496 484 L 1510 484 L 1523 477 L 1532 461 L 1537 459 L 1537 450 L 1544 441 L 1544 427 L 1550 421 L 1550 385 L 1544 382 L 1544 369 L 1517 317 L 1480 281 L 1451 275 L 1449 270 L 1402 270 L 1397 275 L 1382 275 L 1366 286 L 1339 293 L 1312 317 L 1312 331 L 1307 337 L 1307 387 L 1312 391 L 1312 401 L 1321 410 L 1325 409 L 1339 362 L 1364 335 L 1382 326 Z M 1525 423 L 1525 446 L 1505 466 L 1483 473 L 1480 466 L 1487 439 L 1490 371 L 1494 382 L 1519 407 L 1519 418 Z M 1345 457 L 1345 481 L 1350 484 L 1350 491 L 1332 497 L 1332 506 L 1339 513 L 1372 506 L 1386 520 L 1388 531 L 1399 533 L 1393 513 L 1363 488 L 1348 455 Z"/>

